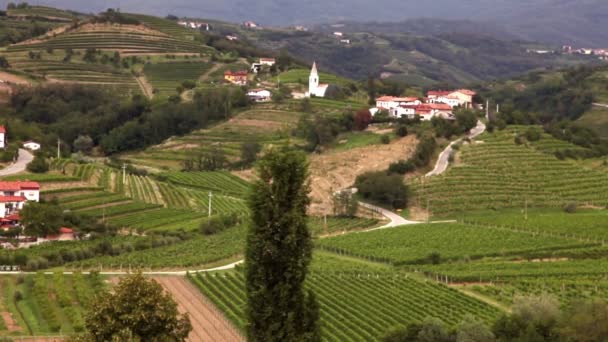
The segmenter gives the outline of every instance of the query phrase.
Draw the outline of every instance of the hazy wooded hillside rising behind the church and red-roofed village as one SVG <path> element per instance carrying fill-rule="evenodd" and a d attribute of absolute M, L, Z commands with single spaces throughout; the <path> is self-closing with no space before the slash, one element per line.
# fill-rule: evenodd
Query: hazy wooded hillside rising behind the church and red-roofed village
<path fill-rule="evenodd" d="M 412 25 L 344 23 L 308 32 L 217 26 L 238 32 L 262 48 L 286 49 L 299 59 L 316 60 L 345 77 L 361 80 L 373 75 L 419 86 L 464 85 L 591 60 L 529 53 L 527 49 L 534 44 L 470 23 L 452 27 L 441 22 L 435 30 L 433 26 L 426 29 L 425 21 Z M 343 36 L 334 36 L 334 31 Z"/>

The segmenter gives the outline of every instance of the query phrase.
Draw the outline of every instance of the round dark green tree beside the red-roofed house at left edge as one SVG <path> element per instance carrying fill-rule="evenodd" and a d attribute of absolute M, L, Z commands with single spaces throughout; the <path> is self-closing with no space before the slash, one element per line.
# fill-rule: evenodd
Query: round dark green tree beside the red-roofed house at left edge
<path fill-rule="evenodd" d="M 27 202 L 19 214 L 26 235 L 43 237 L 57 234 L 63 225 L 62 210 L 56 204 Z"/>

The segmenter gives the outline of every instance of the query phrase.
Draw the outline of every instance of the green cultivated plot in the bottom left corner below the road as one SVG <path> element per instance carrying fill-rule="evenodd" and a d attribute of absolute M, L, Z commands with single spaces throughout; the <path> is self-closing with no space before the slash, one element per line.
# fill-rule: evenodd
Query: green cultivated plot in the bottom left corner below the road
<path fill-rule="evenodd" d="M 53 336 L 82 332 L 84 312 L 105 286 L 97 275 L 0 277 L 0 335 Z"/>

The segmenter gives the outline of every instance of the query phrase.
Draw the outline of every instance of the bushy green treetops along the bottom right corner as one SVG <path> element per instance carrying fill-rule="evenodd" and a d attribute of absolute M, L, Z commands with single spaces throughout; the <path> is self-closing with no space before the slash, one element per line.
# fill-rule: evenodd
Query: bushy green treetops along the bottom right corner
<path fill-rule="evenodd" d="M 516 297 L 511 314 L 490 327 L 466 316 L 455 327 L 437 318 L 410 324 L 388 333 L 384 342 L 510 342 L 606 341 L 608 303 L 604 299 L 571 302 L 564 309 L 551 295 Z"/>

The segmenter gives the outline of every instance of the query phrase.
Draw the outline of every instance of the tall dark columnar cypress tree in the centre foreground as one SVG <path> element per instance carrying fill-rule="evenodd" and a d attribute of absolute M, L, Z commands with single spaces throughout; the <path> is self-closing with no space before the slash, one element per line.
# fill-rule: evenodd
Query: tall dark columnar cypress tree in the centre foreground
<path fill-rule="evenodd" d="M 248 340 L 319 341 L 318 304 L 304 291 L 312 256 L 306 156 L 270 150 L 258 163 L 258 176 L 249 198 L 245 256 Z"/>

